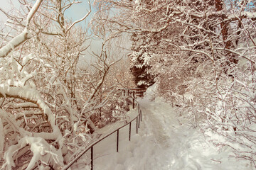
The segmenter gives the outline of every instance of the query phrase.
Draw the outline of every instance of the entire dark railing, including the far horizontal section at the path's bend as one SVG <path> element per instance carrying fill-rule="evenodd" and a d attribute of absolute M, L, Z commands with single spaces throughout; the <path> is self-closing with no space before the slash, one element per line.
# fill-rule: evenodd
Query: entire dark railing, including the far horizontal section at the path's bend
<path fill-rule="evenodd" d="M 70 162 L 68 165 L 66 165 L 63 168 L 63 170 L 68 170 L 71 166 L 73 166 L 73 164 L 78 162 L 78 159 L 80 159 L 89 150 L 90 150 L 90 167 L 91 167 L 90 169 L 92 170 L 93 169 L 93 147 L 95 145 L 97 145 L 97 143 L 101 142 L 102 140 L 105 140 L 107 137 L 114 134 L 115 132 L 117 132 L 117 152 L 118 152 L 118 150 L 119 150 L 119 130 L 126 127 L 127 125 L 129 125 L 129 141 L 131 141 L 132 122 L 135 120 L 136 120 L 136 132 L 138 133 L 139 123 L 142 121 L 142 110 L 139 108 L 139 102 L 136 100 L 136 98 L 137 98 L 137 96 L 139 96 L 139 97 L 143 96 L 144 90 L 139 89 L 139 88 L 124 88 L 124 89 L 119 89 L 119 90 L 123 92 L 124 96 L 127 96 L 127 98 L 132 99 L 132 101 L 131 101 L 132 108 L 134 109 L 135 106 L 137 106 L 138 115 L 134 119 L 132 119 L 128 123 L 126 123 L 125 125 L 118 128 L 117 130 L 114 130 L 113 132 L 106 135 L 105 137 L 102 137 L 102 139 L 93 142 L 91 145 L 89 145 L 89 147 L 87 147 L 87 149 L 85 149 L 83 152 L 81 152 L 78 155 L 78 157 L 75 157 L 75 159 L 73 159 L 72 162 Z"/>

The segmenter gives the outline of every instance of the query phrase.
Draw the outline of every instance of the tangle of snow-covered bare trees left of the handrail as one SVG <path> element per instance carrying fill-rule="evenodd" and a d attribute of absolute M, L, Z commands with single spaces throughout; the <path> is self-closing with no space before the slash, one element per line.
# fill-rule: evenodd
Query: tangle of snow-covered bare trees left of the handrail
<path fill-rule="evenodd" d="M 97 130 L 95 111 L 110 68 L 105 44 L 95 62 L 82 63 L 90 36 L 66 17 L 80 1 L 20 1 L 11 11 L 0 48 L 0 166 L 59 169 L 87 146 Z"/>

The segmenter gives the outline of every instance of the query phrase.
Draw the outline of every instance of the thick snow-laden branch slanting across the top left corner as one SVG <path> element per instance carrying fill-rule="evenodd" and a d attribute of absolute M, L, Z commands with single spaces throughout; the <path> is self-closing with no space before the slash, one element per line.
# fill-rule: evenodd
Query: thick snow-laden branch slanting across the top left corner
<path fill-rule="evenodd" d="M 37 0 L 36 3 L 31 8 L 31 11 L 29 11 L 28 16 L 26 18 L 26 28 L 23 30 L 23 32 L 18 34 L 16 37 L 14 37 L 4 47 L 1 47 L 0 57 L 6 57 L 6 55 L 8 55 L 11 52 L 11 50 L 14 50 L 15 47 L 17 47 L 18 45 L 21 45 L 23 42 L 28 40 L 29 23 L 33 18 L 33 16 L 35 15 L 36 11 L 38 11 L 38 8 L 41 5 L 42 1 L 43 0 Z"/>

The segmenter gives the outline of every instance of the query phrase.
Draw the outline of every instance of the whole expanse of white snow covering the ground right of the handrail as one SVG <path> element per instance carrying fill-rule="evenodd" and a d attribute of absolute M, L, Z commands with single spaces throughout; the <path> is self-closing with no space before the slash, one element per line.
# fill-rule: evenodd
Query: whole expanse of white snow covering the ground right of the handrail
<path fill-rule="evenodd" d="M 180 125 L 175 108 L 161 100 L 140 100 L 142 123 L 136 134 L 136 121 L 120 130 L 119 152 L 116 152 L 114 133 L 95 145 L 94 169 L 113 170 L 244 170 L 253 169 L 246 161 L 229 157 L 231 150 L 216 148 L 206 142 L 198 130 Z M 132 114 L 131 114 L 132 113 Z M 131 111 L 131 117 L 136 111 Z M 88 153 L 90 156 L 90 153 Z M 88 161 L 87 161 L 88 162 Z M 89 164 L 89 162 L 87 163 Z M 85 163 L 72 169 L 90 169 Z"/>

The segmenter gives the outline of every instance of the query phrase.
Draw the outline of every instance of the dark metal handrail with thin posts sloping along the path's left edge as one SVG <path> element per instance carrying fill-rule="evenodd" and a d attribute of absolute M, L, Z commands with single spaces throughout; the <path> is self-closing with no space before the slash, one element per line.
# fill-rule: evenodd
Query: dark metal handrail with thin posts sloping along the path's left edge
<path fill-rule="evenodd" d="M 125 125 L 122 125 L 121 127 L 119 127 L 117 130 L 114 130 L 113 132 L 111 132 L 110 134 L 106 135 L 105 137 L 102 137 L 102 139 L 97 140 L 96 142 L 93 142 L 91 145 L 89 145 L 89 147 L 87 147 L 87 149 L 85 149 L 83 152 L 81 152 L 78 157 L 75 157 L 75 159 L 73 159 L 73 161 L 71 161 L 67 166 L 65 166 L 63 168 L 63 170 L 67 170 L 70 168 L 70 166 L 72 166 L 73 164 L 75 164 L 75 162 L 78 161 L 78 159 L 80 159 L 80 157 L 82 157 L 82 155 L 84 155 L 89 149 L 91 149 L 91 170 L 93 169 L 93 146 L 95 146 L 97 143 L 101 142 L 102 140 L 105 140 L 105 138 L 109 137 L 110 135 L 112 135 L 114 132 L 117 132 L 117 152 L 119 149 L 119 130 L 124 128 L 125 126 L 129 125 L 129 141 L 131 140 L 131 125 L 132 122 L 136 119 L 137 120 L 137 124 L 136 124 L 136 132 L 138 133 L 138 128 L 139 128 L 139 122 L 142 121 L 142 110 L 139 108 L 139 102 L 134 98 L 134 95 L 132 96 L 132 100 L 133 100 L 133 108 L 134 108 L 134 101 L 136 101 L 137 106 L 138 106 L 138 115 L 130 120 L 128 123 L 126 123 Z"/>

